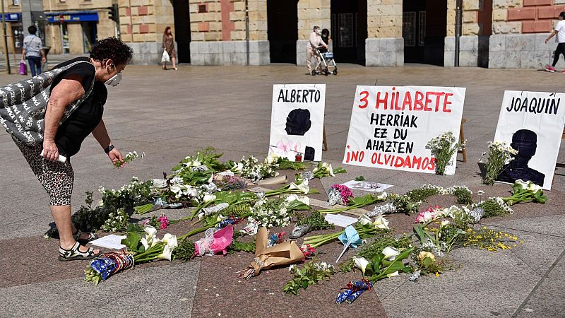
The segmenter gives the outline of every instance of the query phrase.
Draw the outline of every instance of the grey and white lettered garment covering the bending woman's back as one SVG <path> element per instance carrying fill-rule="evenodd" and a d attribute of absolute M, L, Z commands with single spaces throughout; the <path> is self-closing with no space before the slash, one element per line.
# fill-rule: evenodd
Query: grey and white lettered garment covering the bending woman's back
<path fill-rule="evenodd" d="M 76 61 L 59 69 L 52 69 L 25 81 L 13 83 L 0 88 L 0 124 L 8 134 L 28 146 L 42 143 L 44 131 L 45 110 L 49 102 L 49 91 L 54 78 L 78 63 Z M 66 107 L 62 124 L 69 116 L 88 98 L 94 88 L 94 81 L 82 98 L 72 102 Z"/>

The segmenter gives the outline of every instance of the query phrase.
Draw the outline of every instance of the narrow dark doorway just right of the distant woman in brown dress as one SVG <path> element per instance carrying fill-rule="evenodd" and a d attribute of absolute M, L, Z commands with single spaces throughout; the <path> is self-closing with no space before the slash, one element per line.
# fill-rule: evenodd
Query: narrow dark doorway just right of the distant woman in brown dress
<path fill-rule="evenodd" d="M 177 41 L 179 62 L 190 63 L 190 11 L 189 1 L 173 0 L 174 40 Z"/>

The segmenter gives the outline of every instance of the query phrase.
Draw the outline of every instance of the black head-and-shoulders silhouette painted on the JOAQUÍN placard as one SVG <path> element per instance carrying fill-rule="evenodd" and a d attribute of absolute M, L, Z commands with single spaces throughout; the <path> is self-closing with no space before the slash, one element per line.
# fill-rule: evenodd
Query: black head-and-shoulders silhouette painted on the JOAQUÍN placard
<path fill-rule="evenodd" d="M 537 148 L 537 135 L 535 132 L 528 129 L 516 131 L 512 136 L 510 146 L 516 149 L 518 154 L 508 165 L 504 165 L 502 172 L 496 180 L 513 183 L 517 179 L 522 179 L 542 187 L 545 175 L 528 167 L 528 162 L 535 155 Z"/>

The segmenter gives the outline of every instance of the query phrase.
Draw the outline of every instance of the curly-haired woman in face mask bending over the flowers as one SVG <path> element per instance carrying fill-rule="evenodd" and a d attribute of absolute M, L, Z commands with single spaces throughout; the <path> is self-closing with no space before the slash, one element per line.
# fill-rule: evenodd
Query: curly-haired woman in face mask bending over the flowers
<path fill-rule="evenodd" d="M 124 42 L 109 37 L 96 42 L 90 58 L 71 59 L 40 78 L 18 83 L 21 101 L 10 99 L 12 86 L 16 85 L 0 88 L 5 105 L 0 107 L 0 123 L 12 135 L 49 194 L 51 213 L 59 231 L 59 261 L 93 259 L 100 254 L 97 249 L 81 245 L 97 235 L 81 232 L 71 221 L 74 172 L 70 161 L 61 160 L 61 155 L 66 158 L 75 155 L 85 138 L 93 134 L 113 164 L 123 160 L 108 136 L 102 112 L 108 95 L 105 84 L 117 86 L 132 54 Z M 10 114 L 14 112 L 22 118 L 13 119 Z"/>

